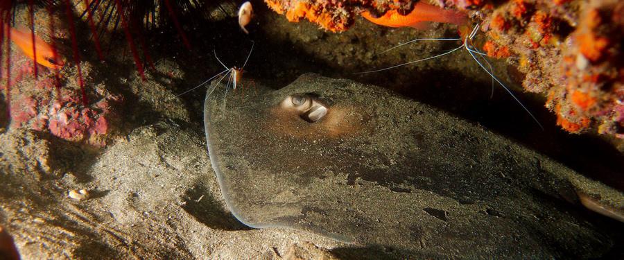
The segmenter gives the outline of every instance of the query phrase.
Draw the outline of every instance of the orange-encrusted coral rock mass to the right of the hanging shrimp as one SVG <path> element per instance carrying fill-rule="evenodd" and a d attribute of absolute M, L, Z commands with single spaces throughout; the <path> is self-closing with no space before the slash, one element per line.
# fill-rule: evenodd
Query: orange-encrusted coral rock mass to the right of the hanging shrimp
<path fill-rule="evenodd" d="M 547 94 L 557 125 L 624 136 L 623 0 L 487 2 L 496 7 L 478 8 L 488 25 L 483 51 L 518 55 L 523 87 Z"/>

